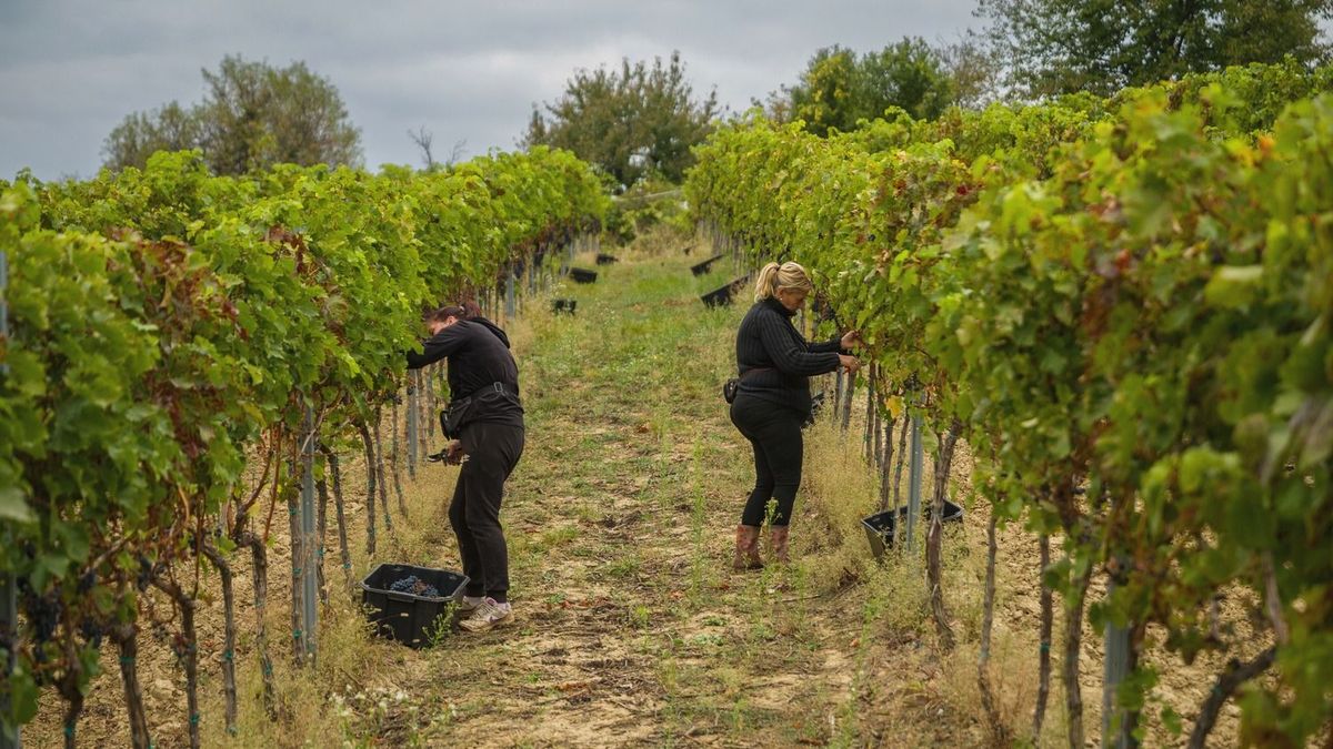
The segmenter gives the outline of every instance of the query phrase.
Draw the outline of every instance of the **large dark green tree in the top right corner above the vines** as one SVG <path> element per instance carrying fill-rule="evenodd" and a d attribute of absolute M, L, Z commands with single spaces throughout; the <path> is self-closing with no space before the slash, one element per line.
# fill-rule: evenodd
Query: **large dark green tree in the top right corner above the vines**
<path fill-rule="evenodd" d="M 1008 87 L 1101 96 L 1248 63 L 1329 59 L 1333 0 L 980 0 Z"/>

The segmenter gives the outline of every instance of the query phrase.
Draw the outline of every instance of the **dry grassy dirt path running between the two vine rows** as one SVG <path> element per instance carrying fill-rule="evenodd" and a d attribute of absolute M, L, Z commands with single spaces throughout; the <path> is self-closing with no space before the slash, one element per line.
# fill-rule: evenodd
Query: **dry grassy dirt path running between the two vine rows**
<path fill-rule="evenodd" d="M 717 393 L 738 312 L 702 312 L 686 264 L 604 271 L 524 353 L 531 441 L 505 509 L 521 625 L 456 637 L 405 685 L 449 714 L 440 740 L 789 742 L 820 737 L 810 697 L 850 682 L 809 637 L 818 604 L 789 601 L 804 581 L 725 570 L 750 478 Z"/>

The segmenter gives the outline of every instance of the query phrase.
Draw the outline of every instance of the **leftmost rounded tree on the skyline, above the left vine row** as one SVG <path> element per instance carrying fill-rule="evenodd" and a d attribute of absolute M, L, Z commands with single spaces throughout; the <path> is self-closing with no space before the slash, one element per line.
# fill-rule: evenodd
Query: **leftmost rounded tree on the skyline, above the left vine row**
<path fill-rule="evenodd" d="M 305 67 L 273 68 L 227 56 L 203 71 L 204 100 L 185 108 L 171 101 L 127 116 L 107 136 L 111 169 L 143 167 L 156 151 L 199 148 L 216 175 L 239 175 L 272 164 L 359 164 L 361 135 L 348 119 L 337 88 Z"/>

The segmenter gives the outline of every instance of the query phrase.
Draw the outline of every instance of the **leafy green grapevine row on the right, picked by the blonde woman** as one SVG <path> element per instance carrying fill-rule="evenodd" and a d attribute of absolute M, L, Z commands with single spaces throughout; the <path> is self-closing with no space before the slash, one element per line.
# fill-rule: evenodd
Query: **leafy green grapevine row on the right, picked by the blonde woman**
<path fill-rule="evenodd" d="M 1244 737 L 1301 745 L 1333 718 L 1326 88 L 1328 69 L 1254 65 L 828 139 L 752 116 L 697 149 L 685 192 L 705 229 L 810 268 L 862 331 L 876 389 L 921 384 L 880 408 L 933 425 L 942 465 L 966 438 L 992 513 L 1062 538 L 1042 574 L 1064 593 L 1072 745 L 1094 576 L 1114 584 L 1096 626 L 1128 626 L 1136 653 L 1160 626 L 1185 662 L 1242 654 L 1210 604 L 1250 590 L 1274 654 L 1218 684 L 1268 662 L 1276 678 L 1241 690 Z M 930 590 L 946 645 L 933 570 Z M 1157 680 L 1134 661 L 1116 694 L 1130 724 Z"/>

